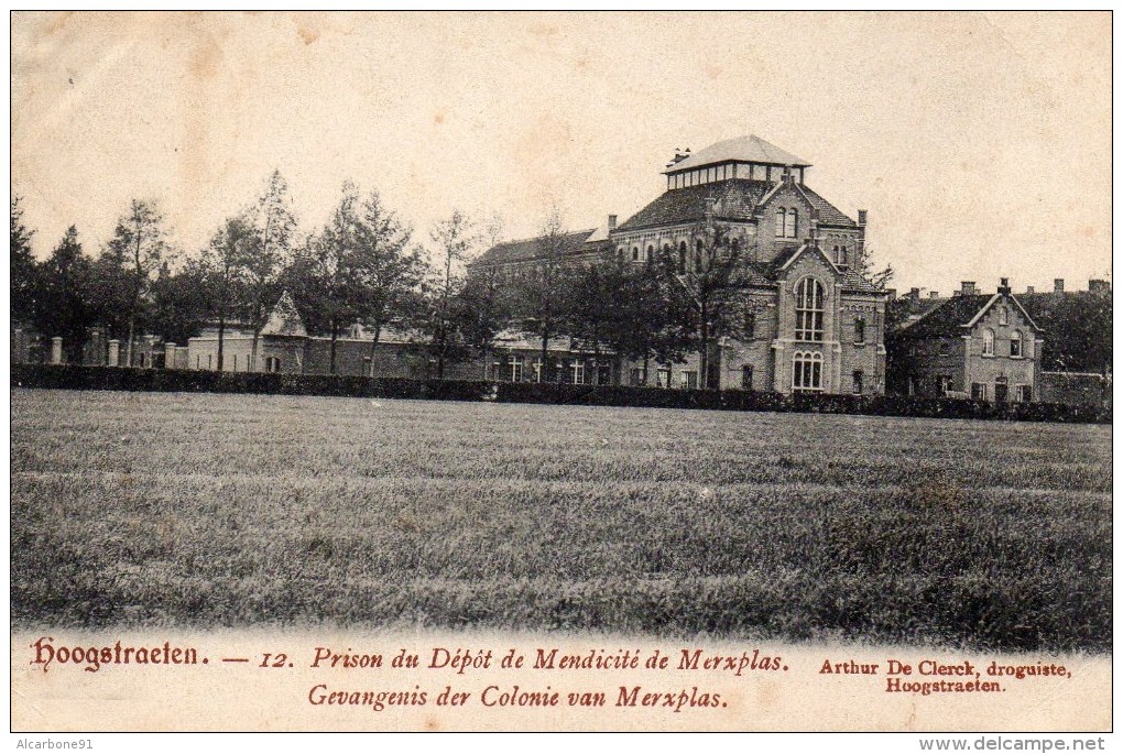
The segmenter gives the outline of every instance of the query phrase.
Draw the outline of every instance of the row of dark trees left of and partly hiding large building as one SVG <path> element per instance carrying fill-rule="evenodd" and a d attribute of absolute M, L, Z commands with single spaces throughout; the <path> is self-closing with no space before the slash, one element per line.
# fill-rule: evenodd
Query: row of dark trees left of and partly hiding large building
<path fill-rule="evenodd" d="M 499 231 L 454 211 L 426 241 L 385 206 L 375 191 L 344 185 L 322 228 L 303 233 L 279 172 L 254 201 L 226 218 L 206 248 L 176 248 L 156 202 L 134 200 L 112 238 L 88 254 L 73 226 L 37 261 L 33 231 L 11 203 L 11 315 L 43 335 L 63 338 L 67 360 L 81 360 L 86 331 L 102 327 L 124 343 L 126 364 L 140 334 L 183 343 L 204 325 L 222 339 L 237 327 L 258 330 L 287 291 L 309 332 L 335 343 L 355 323 L 373 335 L 389 327 L 411 333 L 419 350 L 445 365 L 483 355 L 513 328 L 541 349 L 545 374 L 551 341 L 600 356 L 602 350 L 648 367 L 685 355 L 706 359 L 723 337 L 751 335 L 763 302 L 754 301 L 750 240 L 700 223 L 688 245 L 645 256 L 617 257 L 608 247 L 574 265 L 570 236 L 557 213 L 542 223 L 532 259 L 511 266 L 468 263 Z M 748 331 L 748 332 L 747 332 Z"/>

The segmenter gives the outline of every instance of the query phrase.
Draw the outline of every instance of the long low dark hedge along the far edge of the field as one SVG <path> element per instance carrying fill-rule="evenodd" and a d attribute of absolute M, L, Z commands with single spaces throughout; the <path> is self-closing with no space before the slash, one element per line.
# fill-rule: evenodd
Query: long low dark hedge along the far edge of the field
<path fill-rule="evenodd" d="M 984 419 L 1110 424 L 1112 410 L 1053 403 L 990 404 L 983 401 L 898 395 L 782 395 L 747 390 L 486 383 L 457 379 L 267 375 L 261 373 L 125 369 L 37 364 L 11 365 L 12 387 L 72 390 L 258 393 L 359 398 L 494 401 L 581 406 L 777 411 L 874 416 Z"/>

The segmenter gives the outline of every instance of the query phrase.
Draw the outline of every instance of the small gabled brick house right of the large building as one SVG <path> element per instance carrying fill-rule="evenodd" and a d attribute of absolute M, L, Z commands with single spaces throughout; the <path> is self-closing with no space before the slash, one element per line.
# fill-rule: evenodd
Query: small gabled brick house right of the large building
<path fill-rule="evenodd" d="M 889 338 L 900 392 L 926 397 L 1029 403 L 1040 399 L 1043 330 L 1006 278 L 994 294 L 964 283 Z"/>

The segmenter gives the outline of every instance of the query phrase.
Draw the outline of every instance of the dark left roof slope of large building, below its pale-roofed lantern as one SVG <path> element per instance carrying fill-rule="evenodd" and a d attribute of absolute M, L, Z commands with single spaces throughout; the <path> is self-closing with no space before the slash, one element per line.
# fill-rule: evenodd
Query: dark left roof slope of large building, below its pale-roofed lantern
<path fill-rule="evenodd" d="M 713 197 L 718 220 L 751 220 L 752 210 L 772 188 L 767 181 L 730 178 L 664 192 L 654 202 L 628 218 L 617 230 L 697 222 L 705 218 L 705 200 Z"/>

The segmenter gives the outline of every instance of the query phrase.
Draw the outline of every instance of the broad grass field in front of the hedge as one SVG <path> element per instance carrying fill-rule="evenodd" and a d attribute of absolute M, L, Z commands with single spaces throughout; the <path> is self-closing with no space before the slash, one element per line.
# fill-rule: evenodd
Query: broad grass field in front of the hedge
<path fill-rule="evenodd" d="M 1111 427 L 11 393 L 15 626 L 1112 642 Z"/>

